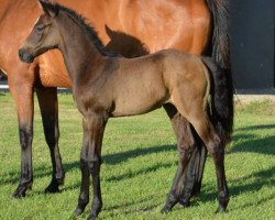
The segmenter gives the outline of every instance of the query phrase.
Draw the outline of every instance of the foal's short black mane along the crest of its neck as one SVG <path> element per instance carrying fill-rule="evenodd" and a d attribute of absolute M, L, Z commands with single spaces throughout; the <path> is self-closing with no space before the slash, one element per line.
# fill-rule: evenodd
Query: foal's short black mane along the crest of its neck
<path fill-rule="evenodd" d="M 81 14 L 78 14 L 74 10 L 72 10 L 69 8 L 66 8 L 64 6 L 61 6 L 58 3 L 54 3 L 53 8 L 57 12 L 64 12 L 69 18 L 72 18 L 77 24 L 79 24 L 79 26 L 85 32 L 85 34 L 87 34 L 90 37 L 90 40 L 92 41 L 92 43 L 95 44 L 95 46 L 98 48 L 98 51 L 103 56 L 118 56 L 117 53 L 109 52 L 109 51 L 107 51 L 105 48 L 105 45 L 101 42 L 101 40 L 99 38 L 97 31 L 94 29 L 94 26 L 91 24 L 87 23 L 87 19 L 85 16 L 82 16 Z"/>

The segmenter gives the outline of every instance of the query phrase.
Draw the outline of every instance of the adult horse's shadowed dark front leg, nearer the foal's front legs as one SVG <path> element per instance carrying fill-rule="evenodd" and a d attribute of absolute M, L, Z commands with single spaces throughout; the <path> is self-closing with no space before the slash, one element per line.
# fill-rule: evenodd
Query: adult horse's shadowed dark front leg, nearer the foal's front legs
<path fill-rule="evenodd" d="M 46 143 L 50 147 L 53 166 L 52 182 L 46 187 L 45 193 L 57 193 L 59 191 L 58 186 L 64 184 L 65 178 L 62 157 L 58 148 L 59 128 L 57 89 L 40 86 L 36 88 L 36 94 L 41 109 L 44 134 Z"/>

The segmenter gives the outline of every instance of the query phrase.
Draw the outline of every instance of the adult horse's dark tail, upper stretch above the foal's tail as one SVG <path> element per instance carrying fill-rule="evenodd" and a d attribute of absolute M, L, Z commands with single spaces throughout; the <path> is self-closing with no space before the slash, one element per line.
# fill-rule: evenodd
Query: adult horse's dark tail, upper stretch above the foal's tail
<path fill-rule="evenodd" d="M 228 0 L 207 0 L 208 8 L 212 16 L 212 41 L 210 45 L 210 56 L 216 63 L 230 73 L 230 50 L 228 35 Z"/>

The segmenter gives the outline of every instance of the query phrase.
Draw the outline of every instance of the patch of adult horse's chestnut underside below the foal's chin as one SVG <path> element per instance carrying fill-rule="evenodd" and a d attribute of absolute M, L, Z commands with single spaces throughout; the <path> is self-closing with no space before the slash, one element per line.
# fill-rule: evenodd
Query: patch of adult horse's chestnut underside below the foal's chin
<path fill-rule="evenodd" d="M 38 57 L 40 81 L 44 87 L 72 88 L 63 56 L 59 51 L 54 50 Z"/>

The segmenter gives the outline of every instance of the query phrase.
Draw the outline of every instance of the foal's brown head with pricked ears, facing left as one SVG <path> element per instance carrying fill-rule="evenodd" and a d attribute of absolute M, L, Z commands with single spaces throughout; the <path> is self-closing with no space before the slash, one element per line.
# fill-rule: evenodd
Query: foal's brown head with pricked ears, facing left
<path fill-rule="evenodd" d="M 32 63 L 33 59 L 51 48 L 56 48 L 59 44 L 59 32 L 56 26 L 56 18 L 59 9 L 55 4 L 38 1 L 44 14 L 36 21 L 31 34 L 19 50 L 22 62 Z"/>

